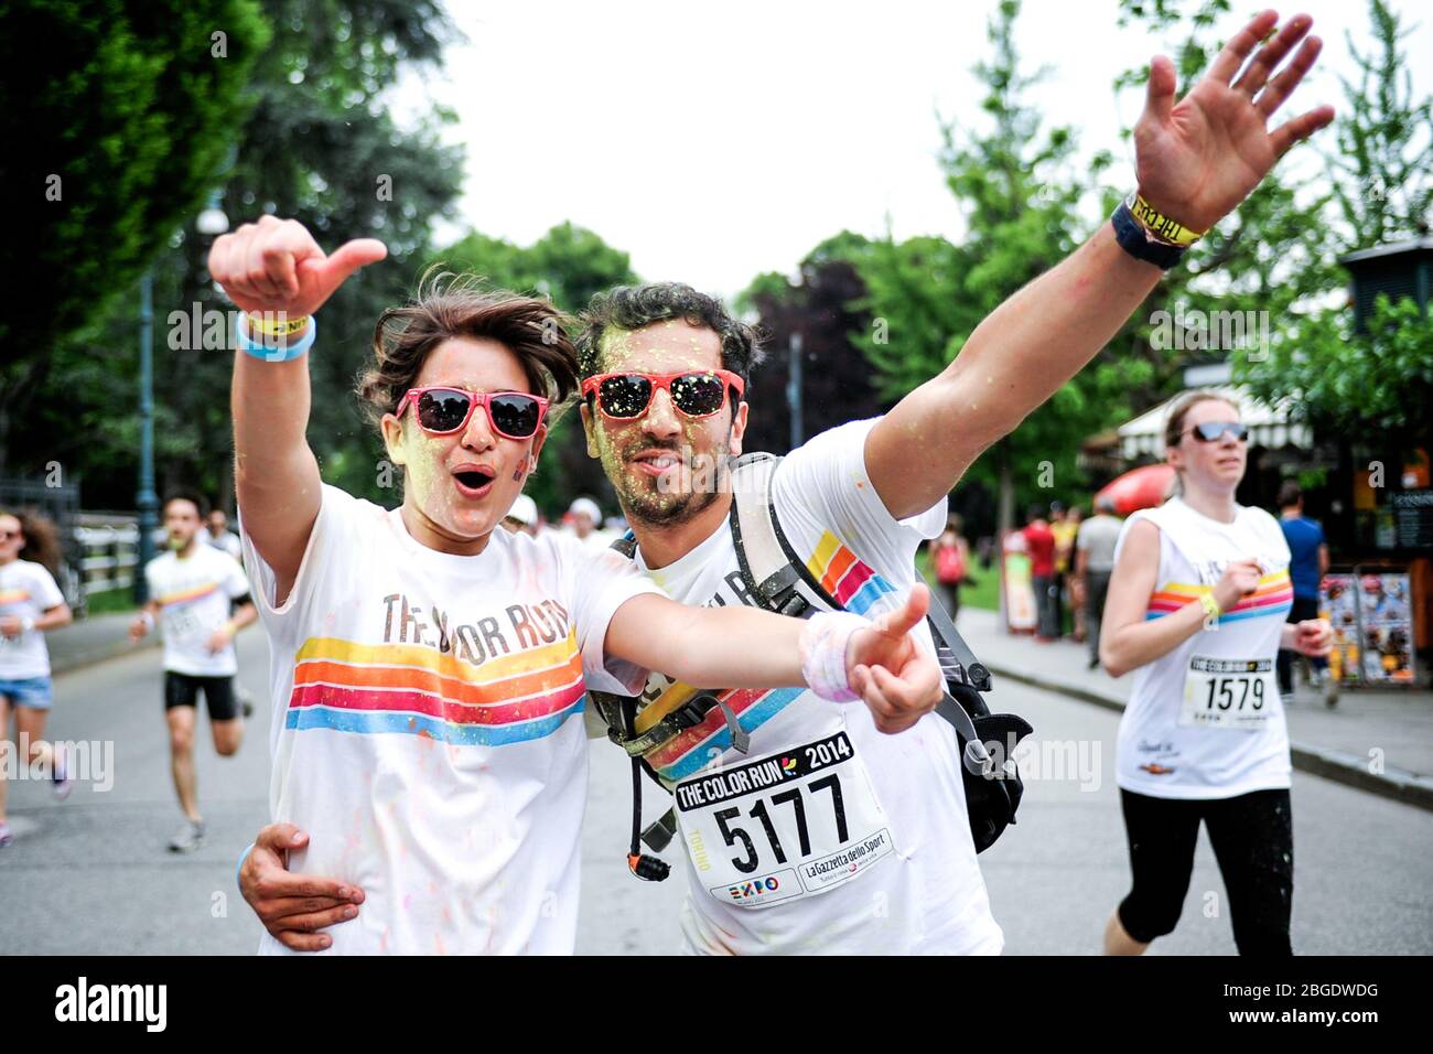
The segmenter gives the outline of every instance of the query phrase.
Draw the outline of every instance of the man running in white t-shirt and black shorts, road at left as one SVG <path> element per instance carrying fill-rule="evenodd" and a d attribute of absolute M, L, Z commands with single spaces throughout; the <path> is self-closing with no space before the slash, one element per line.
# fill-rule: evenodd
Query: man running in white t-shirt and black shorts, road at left
<path fill-rule="evenodd" d="M 193 852 L 203 843 L 203 815 L 193 763 L 195 708 L 199 694 L 209 708 L 209 730 L 219 757 L 244 743 L 242 703 L 235 693 L 238 658 L 234 637 L 255 618 L 244 568 L 221 549 L 199 541 L 202 499 L 173 495 L 165 500 L 169 552 L 149 561 L 149 601 L 129 628 L 142 640 L 156 622 L 165 642 L 165 723 L 169 766 L 185 820 L 169 850 Z"/>

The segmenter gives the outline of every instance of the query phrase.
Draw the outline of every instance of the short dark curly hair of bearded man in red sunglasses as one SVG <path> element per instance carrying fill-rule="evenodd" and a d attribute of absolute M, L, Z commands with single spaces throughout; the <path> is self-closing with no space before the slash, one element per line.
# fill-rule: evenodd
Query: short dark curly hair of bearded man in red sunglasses
<path fill-rule="evenodd" d="M 751 370 L 761 363 L 761 334 L 731 317 L 722 303 L 682 283 L 618 285 L 599 293 L 577 321 L 577 367 L 583 379 L 602 373 L 602 338 L 608 330 L 641 330 L 652 323 L 685 318 L 721 337 L 721 364 L 751 386 Z"/>

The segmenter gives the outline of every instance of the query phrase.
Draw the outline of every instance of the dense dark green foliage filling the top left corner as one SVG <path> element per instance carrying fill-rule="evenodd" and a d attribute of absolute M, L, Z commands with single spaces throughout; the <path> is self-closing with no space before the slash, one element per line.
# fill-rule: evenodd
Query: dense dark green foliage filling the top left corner
<path fill-rule="evenodd" d="M 0 63 L 17 75 L 0 95 L 10 145 L 0 184 L 13 205 L 0 277 L 0 475 L 29 467 L 24 453 L 56 456 L 30 430 L 42 396 L 73 396 L 76 377 L 96 373 L 64 354 L 67 341 L 116 301 L 132 304 L 139 275 L 198 209 L 229 129 L 255 103 L 245 85 L 269 39 L 255 0 L 0 9 Z M 112 370 L 113 356 L 105 361 Z M 113 386 L 115 376 L 97 379 Z"/>

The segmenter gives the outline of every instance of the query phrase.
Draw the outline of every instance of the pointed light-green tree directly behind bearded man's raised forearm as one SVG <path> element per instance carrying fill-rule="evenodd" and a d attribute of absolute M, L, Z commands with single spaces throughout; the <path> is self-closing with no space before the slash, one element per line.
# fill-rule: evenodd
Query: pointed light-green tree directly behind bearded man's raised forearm
<path fill-rule="evenodd" d="M 1109 158 L 1101 153 L 1080 166 L 1073 132 L 1043 129 L 1040 115 L 1025 102 L 1046 72 L 1022 73 L 1019 11 L 1016 0 L 1000 3 L 989 29 L 992 57 L 974 69 L 986 89 L 984 128 L 943 123 L 941 166 L 966 238 L 960 245 L 886 238 L 858 264 L 868 291 L 861 307 L 871 315 L 871 331 L 858 344 L 893 400 L 943 370 L 980 320 L 1069 255 L 1089 229 L 1080 202 Z M 1080 492 L 1079 442 L 1118 419 L 1126 393 L 1146 373 L 1113 348 L 1101 353 L 972 467 L 969 480 L 1000 495 L 1002 529 L 1013 526 L 1017 499 L 1069 499 Z"/>

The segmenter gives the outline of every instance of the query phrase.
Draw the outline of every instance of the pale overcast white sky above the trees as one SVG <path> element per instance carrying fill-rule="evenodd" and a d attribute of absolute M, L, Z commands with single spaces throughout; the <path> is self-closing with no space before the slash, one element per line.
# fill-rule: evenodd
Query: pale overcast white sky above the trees
<path fill-rule="evenodd" d="M 441 75 L 396 93 L 400 118 L 431 100 L 459 115 L 446 138 L 466 145 L 467 181 L 461 225 L 444 238 L 470 225 L 527 244 L 570 219 L 631 252 L 643 278 L 729 295 L 794 270 L 843 228 L 883 234 L 887 215 L 897 238 L 960 235 L 934 115 L 980 120 L 970 67 L 989 53 L 995 0 L 447 6 L 467 43 L 449 49 Z M 1258 10 L 1235 7 L 1230 26 Z M 1404 24 L 1420 7 L 1394 3 Z M 1367 6 L 1277 10 L 1313 14 L 1324 53 L 1275 116 L 1340 106 L 1337 75 L 1354 70 L 1344 33 L 1369 49 Z M 1111 83 L 1166 42 L 1118 30 L 1115 13 L 1115 0 L 1027 0 L 1017 42 L 1027 72 L 1052 67 L 1032 103 L 1132 174 L 1118 132 L 1142 95 L 1116 100 Z M 1420 93 L 1433 79 L 1430 23 L 1404 44 Z"/>

